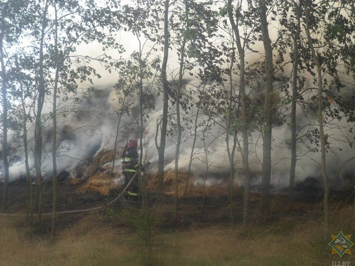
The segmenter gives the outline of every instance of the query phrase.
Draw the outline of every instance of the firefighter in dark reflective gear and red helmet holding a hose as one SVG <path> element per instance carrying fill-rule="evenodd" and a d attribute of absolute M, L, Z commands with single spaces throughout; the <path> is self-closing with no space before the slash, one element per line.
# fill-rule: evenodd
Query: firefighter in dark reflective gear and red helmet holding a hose
<path fill-rule="evenodd" d="M 137 151 L 138 141 L 135 138 L 127 140 L 123 155 L 122 155 L 122 173 L 124 174 L 124 187 L 138 171 L 139 159 Z M 138 198 L 138 177 L 135 177 L 130 187 L 128 188 L 128 196 Z"/>

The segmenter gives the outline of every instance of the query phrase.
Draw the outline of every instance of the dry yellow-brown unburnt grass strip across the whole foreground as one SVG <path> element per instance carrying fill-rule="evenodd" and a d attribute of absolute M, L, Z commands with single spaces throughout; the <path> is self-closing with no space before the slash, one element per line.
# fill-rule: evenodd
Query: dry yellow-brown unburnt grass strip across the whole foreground
<path fill-rule="evenodd" d="M 348 218 L 351 207 L 332 206 L 331 233 L 354 234 Z M 316 210 L 314 210 L 316 212 Z M 320 211 L 318 211 L 320 212 Z M 338 219 L 341 219 L 339 222 Z M 91 214 L 61 231 L 55 244 L 43 237 L 29 237 L 14 220 L 0 220 L 0 265 L 145 265 L 139 237 L 113 227 L 104 216 Z M 285 219 L 264 226 L 240 225 L 190 227 L 157 233 L 153 265 L 332 265 L 354 261 L 331 255 L 323 241 L 320 218 Z M 330 236 L 329 236 L 330 238 Z"/>

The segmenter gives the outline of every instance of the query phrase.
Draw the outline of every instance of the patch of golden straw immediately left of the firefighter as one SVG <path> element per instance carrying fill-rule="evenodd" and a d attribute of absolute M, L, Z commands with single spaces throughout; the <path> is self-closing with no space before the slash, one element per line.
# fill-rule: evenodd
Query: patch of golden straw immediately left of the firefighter
<path fill-rule="evenodd" d="M 78 194 L 101 194 L 108 195 L 110 177 L 107 172 L 97 173 L 77 189 Z M 111 189 L 118 189 L 118 186 L 111 181 Z"/>

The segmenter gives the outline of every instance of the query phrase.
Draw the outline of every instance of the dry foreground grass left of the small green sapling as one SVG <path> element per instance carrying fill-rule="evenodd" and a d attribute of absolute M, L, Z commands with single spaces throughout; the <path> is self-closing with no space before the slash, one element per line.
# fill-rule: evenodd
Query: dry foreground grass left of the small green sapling
<path fill-rule="evenodd" d="M 116 265 L 129 252 L 122 232 L 112 234 L 111 229 L 91 222 L 80 230 L 62 231 L 55 244 L 45 238 L 30 238 L 8 221 L 0 220 L 0 224 L 1 266 Z"/>

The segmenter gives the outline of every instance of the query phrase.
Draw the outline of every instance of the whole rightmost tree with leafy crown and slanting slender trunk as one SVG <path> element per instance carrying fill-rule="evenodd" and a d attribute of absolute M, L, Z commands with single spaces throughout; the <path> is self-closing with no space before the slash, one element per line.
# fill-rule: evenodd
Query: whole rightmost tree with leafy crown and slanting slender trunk
<path fill-rule="evenodd" d="M 306 41 L 308 42 L 309 52 L 311 54 L 311 60 L 308 63 L 308 71 L 313 72 L 313 68 L 316 70 L 314 75 L 317 81 L 317 107 L 315 108 L 317 112 L 317 120 L 319 124 L 319 139 L 320 139 L 320 168 L 321 176 L 324 185 L 324 197 L 323 197 L 323 209 L 324 209 L 324 239 L 328 237 L 329 232 L 329 192 L 330 183 L 328 180 L 327 170 L 326 170 L 326 152 L 327 147 L 329 147 L 329 136 L 325 134 L 325 126 L 327 124 L 327 117 L 330 119 L 337 118 L 341 119 L 340 112 L 347 115 L 348 122 L 354 121 L 354 109 L 355 106 L 349 103 L 341 97 L 341 95 L 336 93 L 331 93 L 332 87 L 340 91 L 344 88 L 339 76 L 338 71 L 342 68 L 339 64 L 339 59 L 342 60 L 342 65 L 345 66 L 345 71 L 349 74 L 350 71 L 354 72 L 355 64 L 352 60 L 352 52 L 349 53 L 349 47 L 353 47 L 353 34 L 354 25 L 352 25 L 352 19 L 342 15 L 341 10 L 343 5 L 346 3 L 341 3 L 337 5 L 331 1 L 324 2 L 311 2 L 305 1 L 305 33 Z M 341 26 L 340 26 L 341 25 Z M 321 36 L 312 37 L 312 33 L 315 35 L 320 35 L 321 32 L 324 33 Z M 327 78 L 324 78 L 325 74 L 333 77 L 333 82 L 328 83 Z M 326 87 L 329 88 L 326 88 Z M 334 105 L 333 109 L 329 108 L 329 105 L 325 104 L 324 95 L 332 95 L 338 106 Z M 339 105 L 341 103 L 341 105 Z M 340 111 L 337 110 L 340 108 Z M 352 145 L 351 143 L 349 143 Z M 353 160 L 352 157 L 346 160 L 339 169 L 343 167 L 344 164 Z M 335 179 L 339 173 L 339 170 L 333 177 Z"/>

